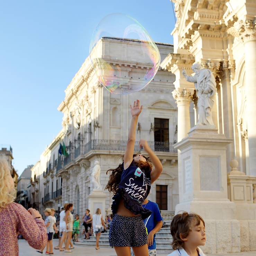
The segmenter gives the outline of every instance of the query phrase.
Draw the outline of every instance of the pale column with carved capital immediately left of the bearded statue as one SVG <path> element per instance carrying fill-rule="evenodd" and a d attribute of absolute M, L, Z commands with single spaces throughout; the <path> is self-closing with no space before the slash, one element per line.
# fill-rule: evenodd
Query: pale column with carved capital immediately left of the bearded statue
<path fill-rule="evenodd" d="M 192 101 L 192 90 L 177 88 L 172 92 L 178 107 L 178 142 L 185 138 L 191 129 L 189 105 Z"/>

